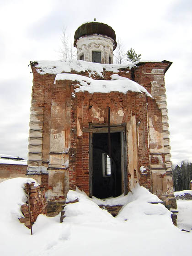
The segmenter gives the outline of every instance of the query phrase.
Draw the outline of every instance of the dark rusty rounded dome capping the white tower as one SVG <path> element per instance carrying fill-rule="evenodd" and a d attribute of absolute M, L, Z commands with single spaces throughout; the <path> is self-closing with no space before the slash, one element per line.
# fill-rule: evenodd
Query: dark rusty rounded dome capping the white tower
<path fill-rule="evenodd" d="M 108 26 L 107 24 L 95 21 L 84 23 L 80 27 L 78 27 L 78 29 L 75 31 L 74 47 L 76 47 L 76 42 L 80 37 L 93 34 L 111 37 L 114 40 L 113 51 L 117 47 L 116 34 L 112 27 Z"/>

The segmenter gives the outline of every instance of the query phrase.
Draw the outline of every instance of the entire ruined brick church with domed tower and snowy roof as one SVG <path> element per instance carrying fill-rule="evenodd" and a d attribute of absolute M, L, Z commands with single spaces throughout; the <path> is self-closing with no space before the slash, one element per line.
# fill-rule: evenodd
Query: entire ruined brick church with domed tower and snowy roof
<path fill-rule="evenodd" d="M 137 184 L 174 207 L 164 81 L 172 63 L 114 65 L 115 32 L 99 22 L 81 25 L 74 46 L 77 60 L 31 62 L 27 175 L 45 186 L 48 211 L 69 189 L 106 198 Z"/>

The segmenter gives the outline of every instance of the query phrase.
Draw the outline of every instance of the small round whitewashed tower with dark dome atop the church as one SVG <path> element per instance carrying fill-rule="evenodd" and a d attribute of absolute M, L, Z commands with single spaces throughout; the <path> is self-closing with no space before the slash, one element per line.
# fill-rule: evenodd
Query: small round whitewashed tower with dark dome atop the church
<path fill-rule="evenodd" d="M 101 64 L 113 64 L 117 47 L 116 34 L 107 24 L 92 21 L 82 24 L 75 32 L 77 59 Z"/>

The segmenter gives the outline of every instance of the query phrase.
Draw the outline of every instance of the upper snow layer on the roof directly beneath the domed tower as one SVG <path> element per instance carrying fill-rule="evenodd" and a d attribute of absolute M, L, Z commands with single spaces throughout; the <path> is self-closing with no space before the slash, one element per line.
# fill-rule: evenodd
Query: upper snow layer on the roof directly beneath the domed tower
<path fill-rule="evenodd" d="M 87 71 L 89 75 L 102 75 L 103 68 L 107 71 L 112 71 L 113 73 L 117 73 L 118 69 L 126 69 L 126 68 L 133 68 L 135 64 L 126 62 L 125 64 L 100 64 L 100 63 L 93 63 L 87 62 L 83 60 L 55 60 L 55 61 L 37 61 L 37 72 L 41 75 L 44 74 L 60 74 L 60 73 L 71 73 L 71 70 L 75 70 L 77 72 L 80 71 Z"/>

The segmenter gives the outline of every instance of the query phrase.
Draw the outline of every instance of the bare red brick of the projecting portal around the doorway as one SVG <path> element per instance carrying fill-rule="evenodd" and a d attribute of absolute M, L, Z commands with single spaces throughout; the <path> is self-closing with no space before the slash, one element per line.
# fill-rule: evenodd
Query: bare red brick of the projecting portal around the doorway
<path fill-rule="evenodd" d="M 78 117 L 80 127 L 89 128 L 89 123 L 106 123 L 107 107 L 111 108 L 111 113 L 123 109 L 124 117 L 122 123 L 127 123 L 131 114 L 136 115 L 137 122 L 142 123 L 142 129 L 139 136 L 143 138 L 139 142 L 139 164 L 149 168 L 149 148 L 147 132 L 147 115 L 146 115 L 146 96 L 140 93 L 128 92 L 127 94 L 119 92 L 94 93 L 79 92 L 76 94 L 77 107 L 82 110 L 82 116 Z M 91 107 L 104 112 L 103 119 L 100 121 L 97 117 L 92 116 Z M 117 121 L 111 124 L 119 124 Z M 128 147 L 128 145 L 127 145 Z M 129 159 L 128 159 L 129 161 Z M 133 177 L 132 177 L 133 178 Z M 77 139 L 77 156 L 76 156 L 76 186 L 89 192 L 89 133 L 83 133 L 83 136 Z M 150 175 L 144 176 L 142 185 L 151 189 Z"/>

